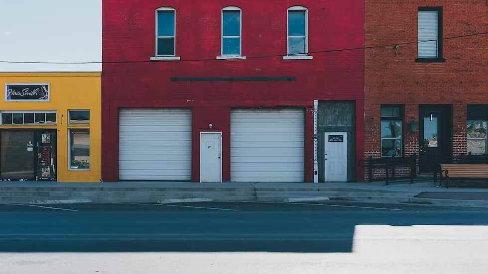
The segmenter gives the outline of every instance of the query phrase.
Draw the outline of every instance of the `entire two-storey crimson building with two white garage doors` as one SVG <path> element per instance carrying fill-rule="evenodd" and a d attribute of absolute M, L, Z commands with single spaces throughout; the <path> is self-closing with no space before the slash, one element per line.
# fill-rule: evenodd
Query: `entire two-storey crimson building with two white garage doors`
<path fill-rule="evenodd" d="M 103 180 L 362 180 L 364 12 L 103 0 Z"/>

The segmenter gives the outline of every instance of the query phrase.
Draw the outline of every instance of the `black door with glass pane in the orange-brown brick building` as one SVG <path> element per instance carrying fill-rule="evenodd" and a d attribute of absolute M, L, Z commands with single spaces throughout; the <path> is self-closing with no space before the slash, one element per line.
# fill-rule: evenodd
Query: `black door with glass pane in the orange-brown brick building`
<path fill-rule="evenodd" d="M 419 171 L 433 173 L 451 158 L 452 117 L 450 106 L 421 106 L 419 130 Z"/>

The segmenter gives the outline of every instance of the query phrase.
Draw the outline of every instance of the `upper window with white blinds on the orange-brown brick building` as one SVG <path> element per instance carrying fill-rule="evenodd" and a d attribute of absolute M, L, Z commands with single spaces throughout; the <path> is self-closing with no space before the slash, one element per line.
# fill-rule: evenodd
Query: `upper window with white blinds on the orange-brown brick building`
<path fill-rule="evenodd" d="M 442 8 L 418 9 L 418 62 L 442 62 Z"/>

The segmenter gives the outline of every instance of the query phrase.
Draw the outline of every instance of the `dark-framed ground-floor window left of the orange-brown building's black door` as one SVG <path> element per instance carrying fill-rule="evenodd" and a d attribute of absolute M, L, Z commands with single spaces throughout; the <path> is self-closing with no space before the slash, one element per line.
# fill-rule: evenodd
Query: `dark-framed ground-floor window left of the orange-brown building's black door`
<path fill-rule="evenodd" d="M 381 157 L 402 156 L 402 106 L 381 106 Z"/>

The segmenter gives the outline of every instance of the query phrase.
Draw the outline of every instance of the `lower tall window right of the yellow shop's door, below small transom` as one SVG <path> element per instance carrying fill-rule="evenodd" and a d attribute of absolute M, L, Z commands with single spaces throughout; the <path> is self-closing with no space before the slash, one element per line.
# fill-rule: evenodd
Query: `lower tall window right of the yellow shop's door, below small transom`
<path fill-rule="evenodd" d="M 77 129 L 69 131 L 70 137 L 70 170 L 90 169 L 90 130 Z"/>

